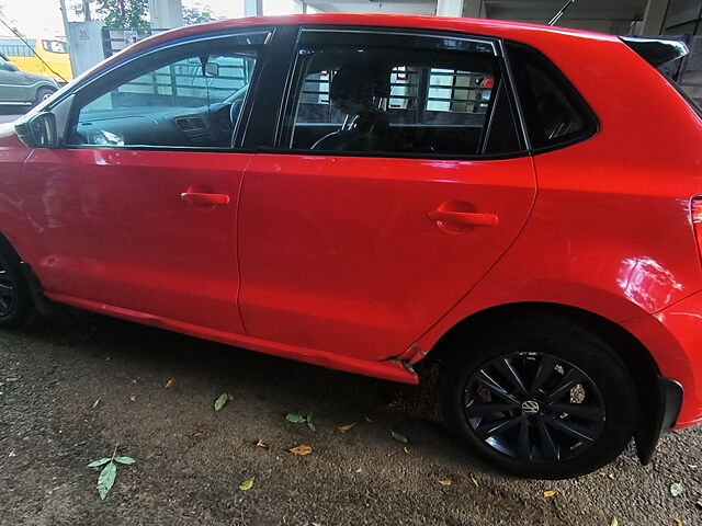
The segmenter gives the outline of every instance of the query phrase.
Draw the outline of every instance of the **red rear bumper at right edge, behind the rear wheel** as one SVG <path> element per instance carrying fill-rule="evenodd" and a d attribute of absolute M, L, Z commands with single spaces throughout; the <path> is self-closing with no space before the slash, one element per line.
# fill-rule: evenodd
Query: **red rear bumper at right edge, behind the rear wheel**
<path fill-rule="evenodd" d="M 702 422 L 702 293 L 693 294 L 654 316 L 623 324 L 650 352 L 665 379 L 675 380 L 682 388 L 679 414 L 675 402 L 661 422 L 664 430 L 690 427 Z M 666 398 L 677 396 L 676 388 L 661 385 Z M 664 396 L 664 395 L 661 395 Z M 663 401 L 663 400 L 661 400 Z M 661 415 L 663 416 L 663 415 Z"/>

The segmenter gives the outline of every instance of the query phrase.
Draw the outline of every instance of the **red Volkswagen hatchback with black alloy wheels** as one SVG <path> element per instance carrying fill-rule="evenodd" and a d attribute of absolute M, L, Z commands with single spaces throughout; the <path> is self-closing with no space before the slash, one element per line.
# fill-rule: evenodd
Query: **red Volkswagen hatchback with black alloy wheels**
<path fill-rule="evenodd" d="M 702 420 L 702 119 L 681 44 L 233 20 L 0 137 L 1 323 L 46 299 L 351 373 L 438 358 L 456 439 L 579 476 Z"/>

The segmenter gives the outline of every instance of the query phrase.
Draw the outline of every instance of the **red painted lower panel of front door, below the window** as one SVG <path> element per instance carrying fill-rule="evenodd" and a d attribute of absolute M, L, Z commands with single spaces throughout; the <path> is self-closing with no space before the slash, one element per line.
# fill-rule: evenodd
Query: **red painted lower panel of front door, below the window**
<path fill-rule="evenodd" d="M 41 251 L 33 263 L 45 288 L 242 332 L 236 204 L 250 159 L 231 152 L 35 150 L 23 190 Z"/>

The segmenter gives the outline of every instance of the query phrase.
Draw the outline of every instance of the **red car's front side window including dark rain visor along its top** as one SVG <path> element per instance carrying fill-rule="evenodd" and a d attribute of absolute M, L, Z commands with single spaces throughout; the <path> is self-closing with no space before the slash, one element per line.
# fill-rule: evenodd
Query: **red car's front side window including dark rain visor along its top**
<path fill-rule="evenodd" d="M 117 67 L 79 96 L 68 144 L 231 148 L 264 38 L 184 44 Z"/>

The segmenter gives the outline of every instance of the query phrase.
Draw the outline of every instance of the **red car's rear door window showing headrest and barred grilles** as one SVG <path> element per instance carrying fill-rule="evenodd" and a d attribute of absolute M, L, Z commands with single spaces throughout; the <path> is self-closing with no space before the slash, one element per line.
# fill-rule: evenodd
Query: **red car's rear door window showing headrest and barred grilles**
<path fill-rule="evenodd" d="M 490 144 L 519 150 L 509 110 L 510 121 L 500 119 L 499 126 L 510 128 L 511 142 L 488 140 L 496 102 L 510 104 L 497 96 L 503 79 L 489 45 L 406 35 L 388 39 L 373 32 L 344 43 L 329 33 L 303 33 L 282 148 L 426 157 L 488 155 Z M 411 45 L 403 46 L 403 38 Z"/>

